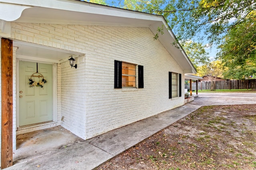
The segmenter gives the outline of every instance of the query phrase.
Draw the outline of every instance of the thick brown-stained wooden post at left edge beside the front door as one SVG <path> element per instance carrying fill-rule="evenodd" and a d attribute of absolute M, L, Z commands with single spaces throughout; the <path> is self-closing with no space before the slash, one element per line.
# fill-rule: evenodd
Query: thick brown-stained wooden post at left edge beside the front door
<path fill-rule="evenodd" d="M 2 134 L 1 169 L 12 166 L 12 40 L 1 39 Z"/>

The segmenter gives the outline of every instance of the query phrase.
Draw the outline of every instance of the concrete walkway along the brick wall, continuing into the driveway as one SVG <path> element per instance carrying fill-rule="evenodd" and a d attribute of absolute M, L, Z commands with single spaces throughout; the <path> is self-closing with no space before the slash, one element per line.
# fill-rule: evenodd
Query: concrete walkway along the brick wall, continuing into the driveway
<path fill-rule="evenodd" d="M 229 105 L 230 103 L 256 104 L 256 93 L 245 95 L 232 93 L 230 96 L 216 95 L 216 93 L 214 95 L 199 94 L 199 97 L 194 102 L 184 106 L 76 143 L 64 149 L 48 150 L 40 155 L 28 157 L 18 161 L 12 167 L 6 168 L 6 170 L 91 170 L 182 119 L 202 105 Z"/>

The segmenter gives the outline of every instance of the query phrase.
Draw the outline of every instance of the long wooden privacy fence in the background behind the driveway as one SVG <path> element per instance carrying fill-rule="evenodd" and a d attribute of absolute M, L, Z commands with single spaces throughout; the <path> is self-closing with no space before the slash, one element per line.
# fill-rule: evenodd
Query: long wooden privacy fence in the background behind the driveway
<path fill-rule="evenodd" d="M 198 82 L 198 90 L 211 90 L 212 82 Z M 256 89 L 256 79 L 248 80 L 224 80 L 215 81 L 214 87 L 216 90 L 222 89 Z M 185 84 L 185 88 L 190 90 L 189 84 Z M 192 83 L 192 90 L 196 90 L 196 82 Z"/>

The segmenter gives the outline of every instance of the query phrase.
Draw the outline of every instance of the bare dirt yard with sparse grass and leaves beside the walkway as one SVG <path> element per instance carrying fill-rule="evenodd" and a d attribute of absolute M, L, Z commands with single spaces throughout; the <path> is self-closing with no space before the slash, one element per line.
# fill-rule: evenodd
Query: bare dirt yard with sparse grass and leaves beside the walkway
<path fill-rule="evenodd" d="M 95 170 L 256 170 L 256 104 L 204 106 Z"/>

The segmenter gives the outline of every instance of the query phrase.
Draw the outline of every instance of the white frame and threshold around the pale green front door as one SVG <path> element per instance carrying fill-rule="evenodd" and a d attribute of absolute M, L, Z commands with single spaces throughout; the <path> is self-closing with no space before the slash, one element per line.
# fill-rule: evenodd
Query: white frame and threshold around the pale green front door
<path fill-rule="evenodd" d="M 20 113 L 19 113 L 19 62 L 20 61 L 29 61 L 34 63 L 44 63 L 44 64 L 52 64 L 52 121 L 46 123 L 38 123 L 34 125 L 27 125 L 24 127 L 20 127 Z M 38 59 L 36 60 L 34 57 L 24 57 L 24 56 L 16 56 L 16 135 L 21 133 L 27 133 L 31 131 L 36 131 L 40 129 L 46 129 L 49 127 L 54 127 L 58 125 L 58 100 L 57 100 L 57 63 L 53 63 L 52 60 L 47 59 Z"/>

